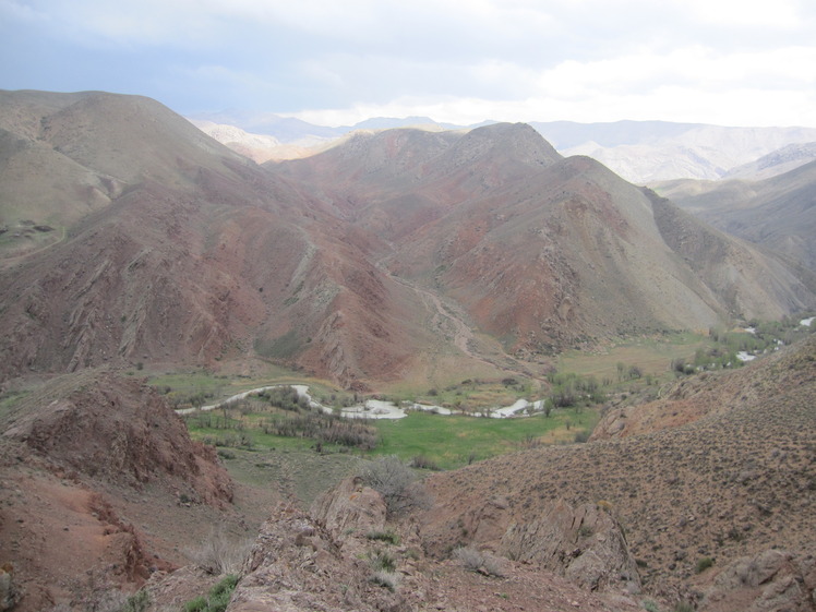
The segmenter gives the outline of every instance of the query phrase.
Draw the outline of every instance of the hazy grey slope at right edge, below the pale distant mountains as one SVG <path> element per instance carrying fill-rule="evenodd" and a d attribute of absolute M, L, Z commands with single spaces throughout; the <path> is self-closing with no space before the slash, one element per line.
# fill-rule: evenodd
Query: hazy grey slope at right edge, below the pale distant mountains
<path fill-rule="evenodd" d="M 761 181 L 674 181 L 658 191 L 713 226 L 816 271 L 816 161 Z"/>

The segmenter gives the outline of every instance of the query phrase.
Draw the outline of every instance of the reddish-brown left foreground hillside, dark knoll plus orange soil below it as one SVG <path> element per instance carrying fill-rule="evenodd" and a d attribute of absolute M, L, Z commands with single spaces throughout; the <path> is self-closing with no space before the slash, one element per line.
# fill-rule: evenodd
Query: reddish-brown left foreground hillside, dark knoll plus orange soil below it
<path fill-rule="evenodd" d="M 88 609 L 111 589 L 137 588 L 178 563 L 179 533 L 195 542 L 201 532 L 202 511 L 181 500 L 221 513 L 232 500 L 214 451 L 191 442 L 142 381 L 88 369 L 4 404 L 0 539 L 15 610 Z M 134 525 L 134 515 L 149 518 Z"/>

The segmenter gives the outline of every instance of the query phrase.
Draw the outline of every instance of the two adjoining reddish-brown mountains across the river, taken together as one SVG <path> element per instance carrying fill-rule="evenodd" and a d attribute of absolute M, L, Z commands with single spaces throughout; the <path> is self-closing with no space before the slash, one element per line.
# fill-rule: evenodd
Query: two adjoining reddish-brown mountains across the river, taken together
<path fill-rule="evenodd" d="M 464 334 L 535 356 L 814 300 L 795 267 L 524 124 L 361 133 L 257 167 L 145 98 L 2 108 L 2 223 L 64 228 L 27 253 L 7 238 L 5 375 L 261 355 L 368 385 L 440 341 L 478 361 Z"/>

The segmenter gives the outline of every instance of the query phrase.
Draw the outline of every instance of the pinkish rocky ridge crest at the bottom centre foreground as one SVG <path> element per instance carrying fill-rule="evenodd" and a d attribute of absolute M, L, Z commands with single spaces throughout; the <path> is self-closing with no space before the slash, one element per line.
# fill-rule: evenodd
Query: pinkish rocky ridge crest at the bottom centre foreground
<path fill-rule="evenodd" d="M 371 525 L 368 513 L 360 512 L 370 507 L 360 502 L 367 490 L 357 489 L 352 480 L 344 482 L 316 503 L 315 511 L 335 526 L 335 513 L 341 508 L 361 519 L 356 523 L 360 527 Z M 352 503 L 346 504 L 343 499 L 355 493 Z M 629 598 L 590 593 L 530 564 L 507 561 L 503 576 L 485 576 L 455 561 L 428 557 L 416 526 L 387 527 L 399 535 L 400 543 L 371 539 L 350 528 L 333 535 L 314 517 L 279 506 L 262 527 L 227 612 L 639 610 Z M 373 562 L 386 557 L 395 567 L 383 577 Z"/>

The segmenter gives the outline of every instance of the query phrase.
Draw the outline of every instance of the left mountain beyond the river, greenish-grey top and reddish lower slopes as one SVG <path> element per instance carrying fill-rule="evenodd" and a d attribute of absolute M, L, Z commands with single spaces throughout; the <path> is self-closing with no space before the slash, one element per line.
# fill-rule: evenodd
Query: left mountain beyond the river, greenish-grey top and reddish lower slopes
<path fill-rule="evenodd" d="M 13 190 L 39 199 L 4 203 L 2 221 L 36 213 L 63 236 L 22 254 L 22 232 L 3 244 L 14 247 L 0 273 L 4 375 L 257 351 L 351 384 L 410 360 L 418 298 L 367 264 L 364 241 L 346 240 L 300 187 L 146 98 L 3 96 L 2 124 L 22 142 L 4 158 L 17 164 Z M 57 205 L 32 187 L 53 160 L 71 170 Z M 115 187 L 103 197 L 88 183 Z"/>

